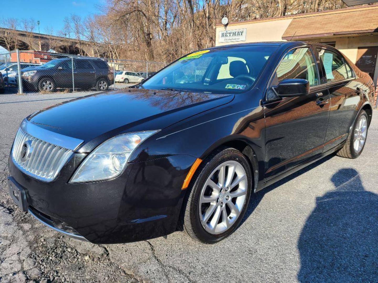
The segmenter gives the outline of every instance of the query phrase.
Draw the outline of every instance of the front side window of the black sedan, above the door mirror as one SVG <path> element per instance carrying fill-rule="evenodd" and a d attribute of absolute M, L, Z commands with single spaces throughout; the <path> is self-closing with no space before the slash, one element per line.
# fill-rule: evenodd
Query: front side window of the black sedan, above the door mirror
<path fill-rule="evenodd" d="M 302 78 L 308 80 L 310 86 L 319 85 L 314 57 L 309 48 L 290 50 L 278 66 L 276 76 L 278 82 L 287 78 Z"/>

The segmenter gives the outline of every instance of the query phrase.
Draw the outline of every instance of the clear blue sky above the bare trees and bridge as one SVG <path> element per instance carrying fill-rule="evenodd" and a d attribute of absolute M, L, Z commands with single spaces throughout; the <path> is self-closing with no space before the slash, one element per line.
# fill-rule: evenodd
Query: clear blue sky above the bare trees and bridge
<path fill-rule="evenodd" d="M 40 33 L 45 33 L 46 26 L 52 26 L 54 32 L 59 31 L 64 26 L 64 18 L 72 14 L 82 18 L 90 14 L 97 14 L 100 11 L 96 5 L 104 3 L 105 0 L 15 0 L 1 1 L 0 18 L 34 18 L 40 21 Z M 16 2 L 16 5 L 15 5 Z M 38 32 L 38 26 L 36 30 Z"/>

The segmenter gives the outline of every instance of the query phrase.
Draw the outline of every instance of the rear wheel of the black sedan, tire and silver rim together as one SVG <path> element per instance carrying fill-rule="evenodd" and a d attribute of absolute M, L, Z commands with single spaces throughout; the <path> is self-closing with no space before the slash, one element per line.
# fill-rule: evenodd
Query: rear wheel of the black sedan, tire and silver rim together
<path fill-rule="evenodd" d="M 361 110 L 349 131 L 347 141 L 336 155 L 352 159 L 359 157 L 366 144 L 368 126 L 369 118 L 365 110 Z"/>

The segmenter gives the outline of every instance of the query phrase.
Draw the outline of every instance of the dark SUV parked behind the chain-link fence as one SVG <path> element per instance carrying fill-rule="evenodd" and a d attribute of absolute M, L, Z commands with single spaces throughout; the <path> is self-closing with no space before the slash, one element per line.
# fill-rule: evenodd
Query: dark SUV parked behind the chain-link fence
<path fill-rule="evenodd" d="M 113 82 L 113 72 L 109 65 L 97 58 L 54 59 L 42 66 L 22 69 L 25 89 L 53 91 L 56 88 L 74 87 L 106 91 Z"/>

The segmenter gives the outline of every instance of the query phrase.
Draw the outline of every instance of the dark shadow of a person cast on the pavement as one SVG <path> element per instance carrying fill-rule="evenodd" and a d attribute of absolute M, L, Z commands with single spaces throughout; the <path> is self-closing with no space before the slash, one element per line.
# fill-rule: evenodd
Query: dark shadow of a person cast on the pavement
<path fill-rule="evenodd" d="M 331 178 L 335 189 L 316 198 L 298 240 L 300 282 L 378 280 L 378 195 L 365 191 L 355 169 Z"/>

